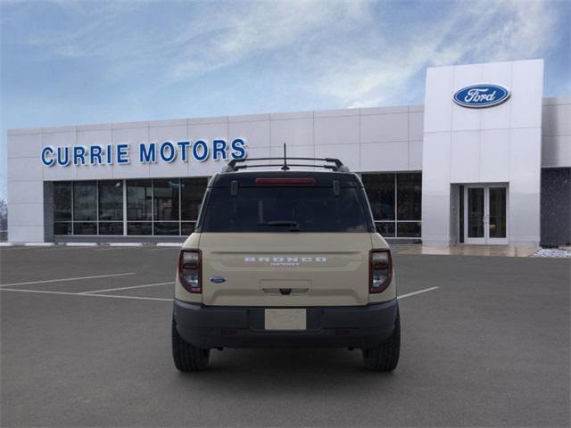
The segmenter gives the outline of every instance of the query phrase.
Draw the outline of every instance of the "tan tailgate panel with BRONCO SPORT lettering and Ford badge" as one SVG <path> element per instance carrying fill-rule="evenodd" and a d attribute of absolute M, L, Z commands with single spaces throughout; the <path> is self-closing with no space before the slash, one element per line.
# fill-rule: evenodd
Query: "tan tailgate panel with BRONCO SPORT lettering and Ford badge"
<path fill-rule="evenodd" d="M 368 233 L 204 233 L 203 304 L 368 304 Z"/>

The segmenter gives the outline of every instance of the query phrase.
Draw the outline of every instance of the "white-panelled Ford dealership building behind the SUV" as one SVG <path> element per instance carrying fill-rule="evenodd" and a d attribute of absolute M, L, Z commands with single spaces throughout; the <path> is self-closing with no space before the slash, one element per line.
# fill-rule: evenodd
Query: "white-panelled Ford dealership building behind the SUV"
<path fill-rule="evenodd" d="M 359 173 L 386 238 L 569 244 L 571 98 L 542 92 L 542 60 L 491 62 L 427 69 L 424 105 L 11 129 L 8 240 L 181 241 L 209 177 L 286 144 Z"/>

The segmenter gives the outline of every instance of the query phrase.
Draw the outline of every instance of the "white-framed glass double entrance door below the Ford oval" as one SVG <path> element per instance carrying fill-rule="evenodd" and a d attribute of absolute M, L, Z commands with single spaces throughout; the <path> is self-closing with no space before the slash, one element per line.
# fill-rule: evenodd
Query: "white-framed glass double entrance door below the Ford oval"
<path fill-rule="evenodd" d="M 464 243 L 508 243 L 508 189 L 468 185 L 464 192 Z"/>

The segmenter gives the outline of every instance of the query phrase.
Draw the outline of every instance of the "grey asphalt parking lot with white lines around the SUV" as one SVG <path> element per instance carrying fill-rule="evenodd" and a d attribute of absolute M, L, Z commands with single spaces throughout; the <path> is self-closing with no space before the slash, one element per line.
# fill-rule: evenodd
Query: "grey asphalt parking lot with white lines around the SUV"
<path fill-rule="evenodd" d="M 207 371 L 180 374 L 177 256 L 0 250 L 2 426 L 570 423 L 569 259 L 397 254 L 393 374 L 365 371 L 357 350 L 215 350 Z"/>

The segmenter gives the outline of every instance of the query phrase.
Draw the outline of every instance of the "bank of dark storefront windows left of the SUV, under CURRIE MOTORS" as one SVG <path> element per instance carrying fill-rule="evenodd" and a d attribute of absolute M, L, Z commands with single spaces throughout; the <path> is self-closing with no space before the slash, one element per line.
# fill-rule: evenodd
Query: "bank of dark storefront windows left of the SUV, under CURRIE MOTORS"
<path fill-rule="evenodd" d="M 54 235 L 187 236 L 207 185 L 207 177 L 54 182 Z"/>

